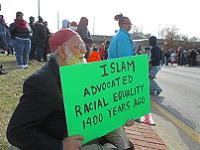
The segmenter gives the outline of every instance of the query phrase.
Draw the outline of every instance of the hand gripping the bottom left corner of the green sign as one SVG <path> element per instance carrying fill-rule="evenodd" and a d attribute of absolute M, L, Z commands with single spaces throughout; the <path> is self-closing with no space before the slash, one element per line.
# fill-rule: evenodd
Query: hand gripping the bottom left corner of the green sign
<path fill-rule="evenodd" d="M 83 137 L 75 135 L 63 140 L 63 150 L 80 150 Z"/>

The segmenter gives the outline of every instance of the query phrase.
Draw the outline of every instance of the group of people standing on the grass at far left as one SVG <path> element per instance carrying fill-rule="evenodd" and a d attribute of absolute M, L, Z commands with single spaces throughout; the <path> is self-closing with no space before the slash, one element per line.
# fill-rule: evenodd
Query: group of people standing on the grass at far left
<path fill-rule="evenodd" d="M 48 29 L 47 21 L 41 16 L 35 22 L 34 17 L 30 17 L 29 24 L 23 18 L 22 12 L 16 12 L 14 22 L 8 27 L 1 15 L 1 48 L 9 55 L 16 55 L 19 68 L 28 68 L 28 61 L 47 61 L 48 38 L 51 33 Z"/>

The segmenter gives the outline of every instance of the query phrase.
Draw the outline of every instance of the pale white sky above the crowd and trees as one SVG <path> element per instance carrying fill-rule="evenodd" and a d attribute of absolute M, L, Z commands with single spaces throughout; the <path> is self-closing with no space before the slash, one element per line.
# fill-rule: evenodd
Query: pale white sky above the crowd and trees
<path fill-rule="evenodd" d="M 82 16 L 89 19 L 93 34 L 113 35 L 118 29 L 114 16 L 123 13 L 145 33 L 158 35 L 166 25 L 176 25 L 179 33 L 200 37 L 200 0 L 40 0 L 41 16 L 49 22 L 51 31 L 57 30 L 57 12 L 62 19 L 79 22 Z M 0 0 L 6 22 L 11 23 L 17 11 L 38 16 L 38 0 Z M 94 29 L 94 30 L 93 30 Z"/>

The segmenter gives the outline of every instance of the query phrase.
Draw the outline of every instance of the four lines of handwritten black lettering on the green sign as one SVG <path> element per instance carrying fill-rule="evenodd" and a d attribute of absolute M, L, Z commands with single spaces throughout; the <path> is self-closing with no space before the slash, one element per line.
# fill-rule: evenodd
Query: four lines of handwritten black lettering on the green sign
<path fill-rule="evenodd" d="M 103 64 L 99 69 L 101 78 L 105 80 L 85 87 L 82 95 L 84 103 L 74 107 L 76 118 L 87 116 L 82 120 L 83 129 L 102 123 L 105 117 L 118 117 L 145 103 L 145 97 L 142 96 L 145 85 L 135 84 L 133 60 Z M 115 78 L 108 78 L 113 74 L 116 74 Z"/>

